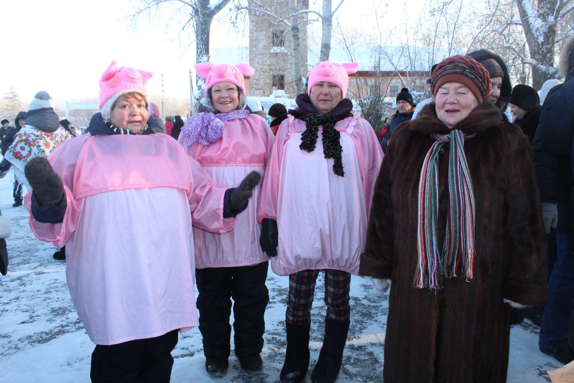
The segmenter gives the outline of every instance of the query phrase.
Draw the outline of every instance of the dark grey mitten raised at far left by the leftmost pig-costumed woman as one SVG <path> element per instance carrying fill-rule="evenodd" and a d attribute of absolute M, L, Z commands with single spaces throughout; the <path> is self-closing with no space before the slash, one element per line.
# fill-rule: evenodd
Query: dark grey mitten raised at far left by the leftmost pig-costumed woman
<path fill-rule="evenodd" d="M 64 184 L 45 157 L 36 156 L 24 167 L 24 175 L 42 206 L 54 206 L 64 196 Z"/>

